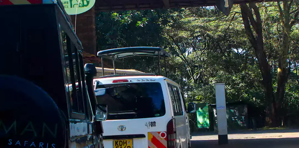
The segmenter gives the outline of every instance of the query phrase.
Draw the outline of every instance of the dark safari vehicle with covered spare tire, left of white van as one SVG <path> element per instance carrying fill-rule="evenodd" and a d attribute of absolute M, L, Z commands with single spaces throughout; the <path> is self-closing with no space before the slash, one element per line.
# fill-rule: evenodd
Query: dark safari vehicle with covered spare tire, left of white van
<path fill-rule="evenodd" d="M 0 148 L 103 148 L 107 106 L 62 3 L 0 0 L 0 28 Z"/>

